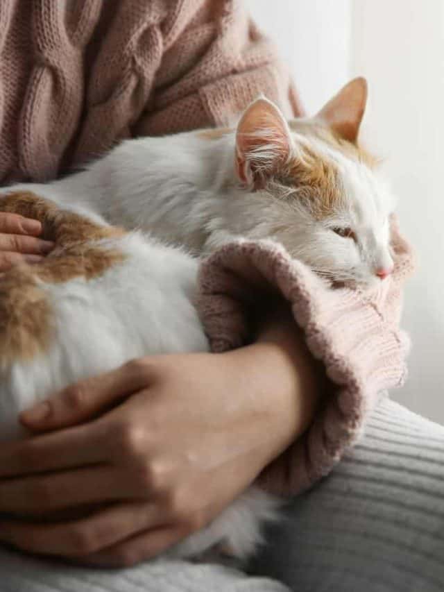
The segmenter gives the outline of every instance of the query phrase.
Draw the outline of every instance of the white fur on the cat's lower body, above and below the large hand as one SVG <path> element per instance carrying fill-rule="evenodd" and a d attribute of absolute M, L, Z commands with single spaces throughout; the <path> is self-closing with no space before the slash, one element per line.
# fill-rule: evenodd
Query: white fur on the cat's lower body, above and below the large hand
<path fill-rule="evenodd" d="M 55 321 L 51 349 L 31 363 L 1 368 L 3 440 L 24 435 L 17 423 L 22 409 L 80 378 L 148 354 L 208 350 L 193 305 L 196 259 L 137 231 L 100 243 L 119 248 L 126 260 L 96 279 L 40 282 Z M 245 559 L 262 540 L 260 525 L 277 518 L 279 505 L 277 498 L 250 487 L 167 555 L 198 557 L 223 541 L 234 557 Z"/>

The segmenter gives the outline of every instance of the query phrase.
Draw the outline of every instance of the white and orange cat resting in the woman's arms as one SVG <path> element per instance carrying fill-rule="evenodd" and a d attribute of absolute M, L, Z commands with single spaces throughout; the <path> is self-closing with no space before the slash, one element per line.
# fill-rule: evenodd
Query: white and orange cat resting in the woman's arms
<path fill-rule="evenodd" d="M 237 128 L 130 139 L 78 174 L 1 189 L 1 210 L 40 219 L 56 242 L 0 281 L 1 437 L 20 434 L 19 411 L 81 378 L 207 350 L 198 257 L 233 237 L 275 239 L 327 280 L 391 273 L 393 199 L 357 146 L 365 103 L 362 78 L 311 119 L 287 122 L 259 98 Z M 224 541 L 246 557 L 276 506 L 252 488 L 173 555 Z"/>

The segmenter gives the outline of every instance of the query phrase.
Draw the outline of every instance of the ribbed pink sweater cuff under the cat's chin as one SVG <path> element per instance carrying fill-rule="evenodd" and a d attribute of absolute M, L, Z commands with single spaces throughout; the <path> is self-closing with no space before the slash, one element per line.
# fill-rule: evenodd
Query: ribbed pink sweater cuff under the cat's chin
<path fill-rule="evenodd" d="M 402 284 L 413 265 L 395 220 L 392 237 L 395 271 L 372 292 L 326 287 L 269 241 L 232 242 L 201 266 L 199 307 L 212 350 L 245 344 L 248 308 L 278 292 L 330 379 L 308 430 L 259 475 L 268 491 L 298 493 L 326 475 L 357 441 L 378 398 L 404 382 L 408 339 L 398 323 Z"/>

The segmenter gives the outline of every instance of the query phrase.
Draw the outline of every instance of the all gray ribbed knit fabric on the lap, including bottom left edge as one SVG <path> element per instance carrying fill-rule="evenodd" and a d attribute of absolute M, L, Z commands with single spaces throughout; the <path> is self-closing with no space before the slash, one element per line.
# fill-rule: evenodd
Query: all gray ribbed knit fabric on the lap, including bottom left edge
<path fill-rule="evenodd" d="M 0 552 L 0 592 L 442 592 L 444 428 L 388 400 L 329 477 L 291 502 L 246 577 L 160 561 L 99 571 Z M 268 580 L 275 579 L 275 582 Z"/>

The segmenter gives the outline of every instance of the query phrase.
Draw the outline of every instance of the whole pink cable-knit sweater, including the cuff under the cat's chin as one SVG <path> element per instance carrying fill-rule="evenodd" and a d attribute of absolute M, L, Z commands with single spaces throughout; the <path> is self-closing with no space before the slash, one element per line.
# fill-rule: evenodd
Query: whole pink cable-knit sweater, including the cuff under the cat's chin
<path fill-rule="evenodd" d="M 223 126 L 259 92 L 301 114 L 241 0 L 0 2 L 3 183 L 55 178 L 125 137 Z M 200 310 L 214 350 L 247 341 L 248 302 L 272 285 L 331 381 L 307 433 L 261 475 L 264 487 L 296 492 L 327 473 L 379 394 L 404 379 L 398 321 L 411 255 L 396 228 L 393 246 L 395 273 L 375 294 L 325 289 L 272 242 L 233 243 L 203 264 Z"/>

